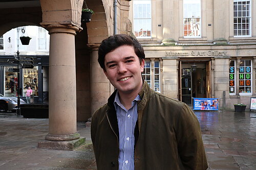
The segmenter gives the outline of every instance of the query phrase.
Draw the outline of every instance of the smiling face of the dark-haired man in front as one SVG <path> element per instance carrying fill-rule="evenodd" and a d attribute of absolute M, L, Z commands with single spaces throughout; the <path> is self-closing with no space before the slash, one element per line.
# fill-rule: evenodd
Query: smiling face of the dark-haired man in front
<path fill-rule="evenodd" d="M 140 63 L 133 46 L 122 45 L 106 54 L 104 64 L 104 74 L 120 94 L 141 90 L 144 59 Z"/>

